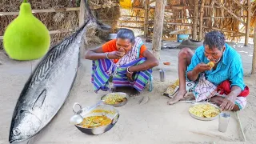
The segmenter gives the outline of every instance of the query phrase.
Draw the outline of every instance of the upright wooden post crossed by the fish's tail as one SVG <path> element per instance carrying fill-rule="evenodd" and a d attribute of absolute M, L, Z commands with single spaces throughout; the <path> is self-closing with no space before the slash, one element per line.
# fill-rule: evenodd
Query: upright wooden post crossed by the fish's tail
<path fill-rule="evenodd" d="M 81 0 L 80 2 L 80 12 L 79 12 L 79 26 L 82 26 L 85 22 L 86 18 L 86 5 L 85 1 Z M 81 47 L 80 47 L 80 58 L 84 58 L 85 54 L 85 38 L 82 38 L 81 40 Z M 80 61 L 79 58 L 79 61 Z"/>

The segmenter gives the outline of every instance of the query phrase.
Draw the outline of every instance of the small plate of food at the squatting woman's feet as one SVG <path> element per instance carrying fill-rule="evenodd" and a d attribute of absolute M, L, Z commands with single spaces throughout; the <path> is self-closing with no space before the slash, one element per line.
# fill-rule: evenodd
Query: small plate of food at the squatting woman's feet
<path fill-rule="evenodd" d="M 128 101 L 128 94 L 122 93 L 122 92 L 116 92 L 116 93 L 110 93 L 104 95 L 101 100 L 104 102 L 106 105 L 118 107 L 118 106 L 123 106 L 127 103 Z"/>

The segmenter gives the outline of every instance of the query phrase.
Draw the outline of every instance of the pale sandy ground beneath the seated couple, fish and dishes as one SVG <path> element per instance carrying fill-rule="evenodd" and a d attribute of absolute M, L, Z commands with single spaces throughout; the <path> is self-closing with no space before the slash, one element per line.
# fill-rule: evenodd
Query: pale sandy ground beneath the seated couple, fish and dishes
<path fill-rule="evenodd" d="M 175 45 L 174 42 L 171 43 Z M 151 49 L 151 44 L 146 43 Z M 245 82 L 250 87 L 250 96 L 245 110 L 239 112 L 242 128 L 248 143 L 256 142 L 256 76 L 250 75 L 252 46 L 232 44 L 242 55 Z M 178 49 L 162 50 L 161 64 L 154 68 L 154 90 L 145 90 L 140 96 L 130 98 L 125 106 L 118 107 L 120 118 L 110 131 L 98 136 L 81 133 L 69 123 L 74 102 L 82 106 L 92 106 L 106 92 L 95 94 L 90 84 L 90 61 L 82 60 L 82 68 L 62 109 L 36 137 L 34 143 L 240 143 L 243 141 L 238 119 L 230 112 L 231 118 L 226 133 L 218 131 L 218 119 L 210 122 L 198 121 L 188 113 L 190 104 L 178 102 L 174 106 L 166 104 L 169 98 L 162 92 L 178 78 Z M 10 119 L 18 96 L 31 73 L 35 62 L 12 61 L 0 53 L 0 143 L 8 142 Z M 162 62 L 171 62 L 163 66 Z M 166 70 L 166 82 L 159 81 L 158 70 Z M 140 99 L 149 96 L 150 101 L 139 105 Z"/>

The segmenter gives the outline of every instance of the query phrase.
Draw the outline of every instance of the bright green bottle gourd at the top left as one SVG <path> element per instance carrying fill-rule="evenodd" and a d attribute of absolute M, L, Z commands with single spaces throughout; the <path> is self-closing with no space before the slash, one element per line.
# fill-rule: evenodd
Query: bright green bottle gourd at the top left
<path fill-rule="evenodd" d="M 3 46 L 9 57 L 15 60 L 42 58 L 49 50 L 49 30 L 34 17 L 31 5 L 26 0 L 20 6 L 18 17 L 7 26 Z"/>

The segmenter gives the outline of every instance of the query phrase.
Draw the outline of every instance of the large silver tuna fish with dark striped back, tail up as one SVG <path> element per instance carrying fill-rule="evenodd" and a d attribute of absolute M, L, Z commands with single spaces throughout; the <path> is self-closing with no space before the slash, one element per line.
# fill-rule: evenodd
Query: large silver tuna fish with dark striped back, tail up
<path fill-rule="evenodd" d="M 53 46 L 26 82 L 14 109 L 10 143 L 24 142 L 34 137 L 61 109 L 76 78 L 79 49 L 86 26 L 96 24 L 102 30 L 110 29 L 94 18 L 87 2 L 85 3 L 88 16 L 85 24 L 70 37 Z"/>

